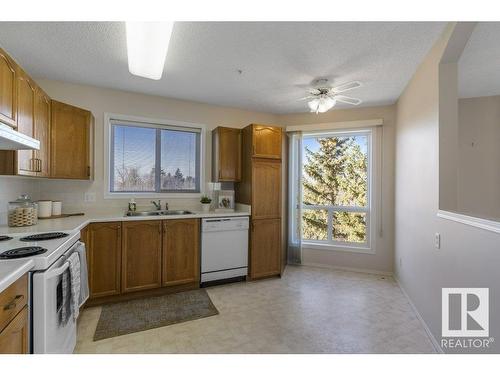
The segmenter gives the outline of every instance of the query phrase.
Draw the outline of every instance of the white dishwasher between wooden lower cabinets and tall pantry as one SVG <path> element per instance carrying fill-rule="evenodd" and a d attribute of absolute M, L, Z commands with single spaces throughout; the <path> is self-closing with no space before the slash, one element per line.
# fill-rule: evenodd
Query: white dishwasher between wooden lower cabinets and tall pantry
<path fill-rule="evenodd" d="M 203 219 L 201 282 L 243 278 L 248 273 L 248 217 Z"/>

